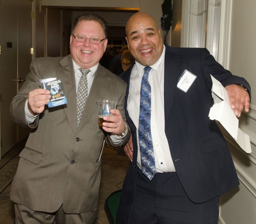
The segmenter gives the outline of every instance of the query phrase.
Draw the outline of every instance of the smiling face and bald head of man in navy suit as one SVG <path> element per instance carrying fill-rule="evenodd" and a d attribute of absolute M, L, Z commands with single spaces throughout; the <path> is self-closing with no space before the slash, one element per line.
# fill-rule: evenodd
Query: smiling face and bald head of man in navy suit
<path fill-rule="evenodd" d="M 163 52 L 163 41 L 153 17 L 137 12 L 126 24 L 126 41 L 132 56 L 141 65 L 151 66 Z"/>

